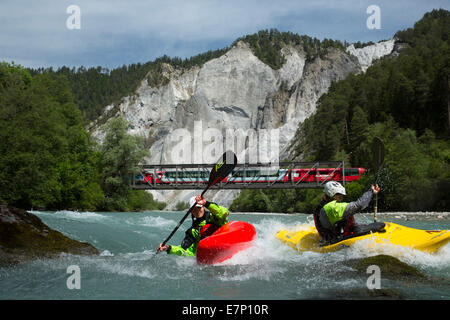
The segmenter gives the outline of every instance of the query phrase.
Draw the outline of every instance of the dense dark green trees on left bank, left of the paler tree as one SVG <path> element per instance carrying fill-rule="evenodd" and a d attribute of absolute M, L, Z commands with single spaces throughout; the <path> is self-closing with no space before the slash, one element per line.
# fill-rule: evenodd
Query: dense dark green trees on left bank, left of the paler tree
<path fill-rule="evenodd" d="M 0 64 L 0 198 L 23 208 L 95 208 L 94 152 L 65 76 Z"/>

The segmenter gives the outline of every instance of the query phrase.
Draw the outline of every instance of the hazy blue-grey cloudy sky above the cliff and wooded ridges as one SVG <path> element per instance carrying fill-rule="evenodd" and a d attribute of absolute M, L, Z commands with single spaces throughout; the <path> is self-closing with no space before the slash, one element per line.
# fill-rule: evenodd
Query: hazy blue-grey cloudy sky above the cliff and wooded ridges
<path fill-rule="evenodd" d="M 73 5 L 79 14 L 68 11 Z M 379 8 L 379 28 L 367 27 L 371 5 Z M 271 28 L 378 42 L 439 8 L 450 10 L 450 1 L 0 0 L 0 61 L 113 69 L 162 55 L 191 57 Z"/>

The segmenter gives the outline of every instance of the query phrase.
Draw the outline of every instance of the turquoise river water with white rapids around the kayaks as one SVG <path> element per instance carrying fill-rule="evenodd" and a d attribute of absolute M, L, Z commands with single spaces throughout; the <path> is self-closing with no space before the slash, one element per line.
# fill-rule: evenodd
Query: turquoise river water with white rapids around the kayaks
<path fill-rule="evenodd" d="M 184 212 L 93 213 L 33 212 L 50 227 L 73 239 L 87 241 L 99 256 L 61 255 L 0 269 L 0 299 L 345 299 L 363 298 L 367 277 L 343 262 L 385 253 L 398 257 L 430 281 L 402 282 L 383 278 L 381 288 L 395 289 L 406 299 L 450 299 L 450 245 L 431 255 L 401 247 L 381 252 L 361 244 L 334 253 L 299 254 L 281 244 L 276 231 L 311 216 L 283 214 L 231 214 L 230 220 L 252 223 L 254 245 L 220 265 L 200 266 L 194 258 L 155 248 L 177 225 Z M 357 221 L 370 222 L 370 215 Z M 420 229 L 450 229 L 450 214 L 378 214 Z M 179 244 L 187 221 L 169 243 Z M 80 289 L 68 289 L 69 266 L 80 270 Z"/>

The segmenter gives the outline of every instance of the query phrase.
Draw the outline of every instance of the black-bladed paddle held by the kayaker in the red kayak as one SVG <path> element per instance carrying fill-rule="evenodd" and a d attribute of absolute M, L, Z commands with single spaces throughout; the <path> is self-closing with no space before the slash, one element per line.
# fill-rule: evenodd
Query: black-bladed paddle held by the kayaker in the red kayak
<path fill-rule="evenodd" d="M 206 191 L 208 191 L 209 188 L 211 188 L 213 185 L 215 185 L 217 182 L 222 181 L 227 175 L 233 171 L 234 167 L 237 164 L 237 157 L 232 151 L 225 152 L 220 159 L 217 161 L 217 164 L 212 168 L 211 172 L 209 173 L 209 180 L 208 185 L 206 186 L 205 190 L 202 192 L 202 197 L 205 194 Z M 178 230 L 178 228 L 183 224 L 184 220 L 186 220 L 189 213 L 194 209 L 195 203 L 192 205 L 192 207 L 189 208 L 189 210 L 186 212 L 184 217 L 181 219 L 181 221 L 178 223 L 178 225 L 173 229 L 173 231 L 170 233 L 170 235 L 167 237 L 166 240 L 162 243 L 162 246 L 165 246 L 167 241 L 172 238 L 172 236 L 175 234 L 175 232 Z M 156 253 L 159 253 L 156 251 Z"/>

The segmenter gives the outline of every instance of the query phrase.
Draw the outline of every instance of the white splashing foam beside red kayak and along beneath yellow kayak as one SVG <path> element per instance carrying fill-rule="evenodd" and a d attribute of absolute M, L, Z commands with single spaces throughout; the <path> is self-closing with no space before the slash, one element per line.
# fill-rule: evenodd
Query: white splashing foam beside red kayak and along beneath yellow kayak
<path fill-rule="evenodd" d="M 263 219 L 254 224 L 257 230 L 257 239 L 249 249 L 238 252 L 232 258 L 219 264 L 222 266 L 242 266 L 243 271 L 234 275 L 223 275 L 221 280 L 239 281 L 252 278 L 269 280 L 271 277 L 284 271 L 283 264 L 295 264 L 299 268 L 315 268 L 317 264 L 324 265 L 340 263 L 348 259 L 365 258 L 379 254 L 394 256 L 399 260 L 418 267 L 419 269 L 446 269 L 450 266 L 450 244 L 441 248 L 437 253 L 430 254 L 420 250 L 393 245 L 375 244 L 370 238 L 356 242 L 350 248 L 344 248 L 336 252 L 297 252 L 291 247 L 279 241 L 275 234 L 279 230 L 287 229 L 299 231 L 314 226 L 313 221 L 286 225 L 276 218 Z M 258 268 L 257 266 L 261 266 Z M 245 272 L 244 269 L 248 271 Z"/>

